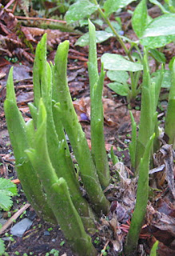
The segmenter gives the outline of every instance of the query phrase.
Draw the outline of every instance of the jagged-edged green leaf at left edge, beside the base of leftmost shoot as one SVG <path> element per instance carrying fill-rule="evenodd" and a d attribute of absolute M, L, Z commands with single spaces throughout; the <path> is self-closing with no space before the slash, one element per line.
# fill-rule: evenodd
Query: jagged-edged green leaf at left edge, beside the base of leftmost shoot
<path fill-rule="evenodd" d="M 11 196 L 17 194 L 16 185 L 9 179 L 0 178 L 0 207 L 3 210 L 9 210 L 12 206 Z"/>

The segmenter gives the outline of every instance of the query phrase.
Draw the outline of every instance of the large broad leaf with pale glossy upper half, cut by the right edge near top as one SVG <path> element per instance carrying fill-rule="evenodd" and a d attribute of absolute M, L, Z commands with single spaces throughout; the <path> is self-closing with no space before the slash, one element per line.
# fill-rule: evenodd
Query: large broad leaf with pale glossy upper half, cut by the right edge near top
<path fill-rule="evenodd" d="M 165 46 L 175 39 L 175 14 L 164 14 L 154 18 L 146 27 L 141 44 L 149 48 Z"/>

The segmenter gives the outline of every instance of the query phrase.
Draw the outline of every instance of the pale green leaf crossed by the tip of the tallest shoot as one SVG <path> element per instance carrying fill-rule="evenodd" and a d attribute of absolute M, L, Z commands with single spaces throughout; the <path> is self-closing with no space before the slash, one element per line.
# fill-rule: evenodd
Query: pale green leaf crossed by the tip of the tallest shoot
<path fill-rule="evenodd" d="M 95 32 L 96 42 L 104 42 L 105 40 L 112 38 L 113 34 L 99 30 Z M 88 46 L 89 45 L 89 32 L 83 34 L 82 37 L 78 38 L 78 41 L 75 43 L 75 46 Z"/>

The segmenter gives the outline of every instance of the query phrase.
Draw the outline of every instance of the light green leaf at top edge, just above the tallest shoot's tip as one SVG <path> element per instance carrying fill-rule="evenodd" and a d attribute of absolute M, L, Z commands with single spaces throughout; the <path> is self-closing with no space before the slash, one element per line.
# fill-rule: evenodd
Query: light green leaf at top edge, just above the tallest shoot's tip
<path fill-rule="evenodd" d="M 80 0 L 70 6 L 66 12 L 66 22 L 72 23 L 80 19 L 87 18 L 97 10 L 97 6 L 88 0 Z"/>

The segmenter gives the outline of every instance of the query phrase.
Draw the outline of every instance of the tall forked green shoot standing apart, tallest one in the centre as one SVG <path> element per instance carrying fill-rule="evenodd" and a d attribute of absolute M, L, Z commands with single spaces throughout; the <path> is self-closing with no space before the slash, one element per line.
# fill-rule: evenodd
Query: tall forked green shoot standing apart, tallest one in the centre
<path fill-rule="evenodd" d="M 91 147 L 92 156 L 97 174 L 104 188 L 109 185 L 109 164 L 105 152 L 105 138 L 103 131 L 103 106 L 102 90 L 105 78 L 103 65 L 101 74 L 97 71 L 97 50 L 95 42 L 95 26 L 89 21 L 89 85 L 90 85 L 90 127 L 91 127 Z"/>

